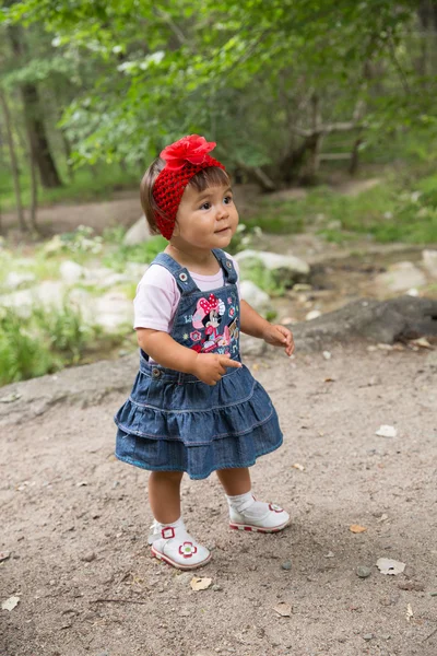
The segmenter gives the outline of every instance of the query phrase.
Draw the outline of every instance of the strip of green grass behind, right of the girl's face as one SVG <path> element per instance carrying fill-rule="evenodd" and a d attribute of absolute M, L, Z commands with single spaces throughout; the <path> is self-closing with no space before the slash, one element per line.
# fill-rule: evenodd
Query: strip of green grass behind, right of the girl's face
<path fill-rule="evenodd" d="M 363 236 L 380 243 L 436 243 L 437 174 L 409 186 L 392 175 L 356 197 L 323 186 L 294 201 L 267 196 L 260 212 L 245 223 L 276 234 L 304 232 L 316 224 L 320 226 L 320 235 L 339 243 Z"/>

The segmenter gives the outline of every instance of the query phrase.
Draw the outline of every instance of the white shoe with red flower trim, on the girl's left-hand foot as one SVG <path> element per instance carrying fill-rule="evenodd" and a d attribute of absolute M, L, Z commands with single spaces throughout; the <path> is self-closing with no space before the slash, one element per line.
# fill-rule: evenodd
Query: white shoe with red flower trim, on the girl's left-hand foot
<path fill-rule="evenodd" d="M 158 560 L 178 570 L 196 570 L 211 560 L 206 547 L 199 544 L 187 532 L 184 524 L 175 528 L 154 522 L 151 529 L 149 544 L 152 544 L 152 553 Z"/>

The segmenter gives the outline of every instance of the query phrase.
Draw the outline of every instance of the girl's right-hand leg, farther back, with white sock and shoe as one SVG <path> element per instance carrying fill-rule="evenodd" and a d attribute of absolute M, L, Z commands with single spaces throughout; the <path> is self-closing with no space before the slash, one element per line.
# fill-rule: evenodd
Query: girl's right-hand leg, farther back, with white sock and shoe
<path fill-rule="evenodd" d="M 288 524 L 290 515 L 280 506 L 255 499 L 248 468 L 221 469 L 217 477 L 229 505 L 231 528 L 275 532 Z"/>

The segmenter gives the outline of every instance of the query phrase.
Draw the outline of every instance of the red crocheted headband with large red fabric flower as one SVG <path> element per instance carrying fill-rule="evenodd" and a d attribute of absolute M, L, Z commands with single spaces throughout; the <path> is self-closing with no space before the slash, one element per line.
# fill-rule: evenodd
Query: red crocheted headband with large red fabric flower
<path fill-rule="evenodd" d="M 153 198 L 162 210 L 155 218 L 156 225 L 166 239 L 173 235 L 179 203 L 190 179 L 209 166 L 225 169 L 223 164 L 208 154 L 214 148 L 213 141 L 208 142 L 204 137 L 190 134 L 167 145 L 161 153 L 166 164 L 155 180 Z"/>

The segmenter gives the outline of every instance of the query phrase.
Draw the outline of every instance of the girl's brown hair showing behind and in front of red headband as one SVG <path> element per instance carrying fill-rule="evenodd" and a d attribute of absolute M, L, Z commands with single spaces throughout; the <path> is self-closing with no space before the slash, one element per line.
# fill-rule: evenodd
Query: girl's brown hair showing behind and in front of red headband
<path fill-rule="evenodd" d="M 160 229 L 156 224 L 156 215 L 163 215 L 161 210 L 153 198 L 153 188 L 155 181 L 166 162 L 161 157 L 156 157 L 144 173 L 143 179 L 140 186 L 140 198 L 141 206 L 143 208 L 144 216 L 149 223 L 150 232 L 152 235 L 158 235 Z M 194 187 L 199 192 L 204 191 L 208 187 L 220 187 L 222 185 L 229 185 L 231 178 L 226 171 L 218 168 L 218 166 L 209 166 L 199 171 L 188 183 L 187 187 Z"/>

